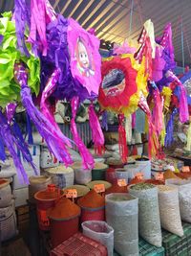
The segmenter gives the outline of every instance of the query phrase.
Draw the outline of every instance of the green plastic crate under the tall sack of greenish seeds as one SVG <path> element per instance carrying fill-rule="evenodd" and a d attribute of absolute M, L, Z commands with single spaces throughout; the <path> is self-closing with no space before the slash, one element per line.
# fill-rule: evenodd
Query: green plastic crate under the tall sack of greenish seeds
<path fill-rule="evenodd" d="M 148 244 L 143 239 L 138 240 L 139 256 L 164 256 L 164 248 L 156 247 Z M 114 256 L 120 256 L 117 252 L 114 252 Z"/>

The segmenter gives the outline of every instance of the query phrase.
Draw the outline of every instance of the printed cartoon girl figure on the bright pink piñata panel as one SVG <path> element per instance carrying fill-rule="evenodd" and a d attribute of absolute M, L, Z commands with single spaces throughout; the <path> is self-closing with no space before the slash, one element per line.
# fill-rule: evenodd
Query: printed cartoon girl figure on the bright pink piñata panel
<path fill-rule="evenodd" d="M 92 55 L 88 53 L 88 49 L 80 37 L 77 39 L 75 57 L 77 59 L 77 68 L 82 76 L 90 77 L 95 75 Z"/>

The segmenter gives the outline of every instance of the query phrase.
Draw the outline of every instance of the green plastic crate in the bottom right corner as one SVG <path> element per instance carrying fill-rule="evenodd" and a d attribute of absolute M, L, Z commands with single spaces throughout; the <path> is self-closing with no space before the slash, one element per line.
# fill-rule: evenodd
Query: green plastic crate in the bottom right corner
<path fill-rule="evenodd" d="M 191 224 L 182 222 L 183 237 L 162 230 L 162 246 L 166 256 L 191 256 Z"/>

